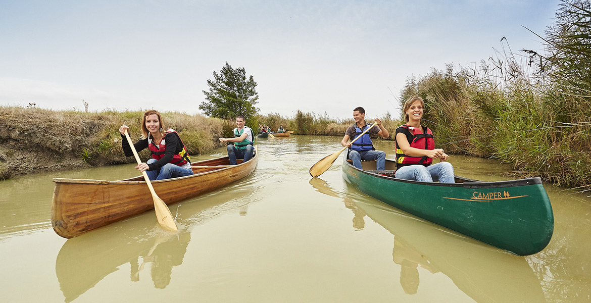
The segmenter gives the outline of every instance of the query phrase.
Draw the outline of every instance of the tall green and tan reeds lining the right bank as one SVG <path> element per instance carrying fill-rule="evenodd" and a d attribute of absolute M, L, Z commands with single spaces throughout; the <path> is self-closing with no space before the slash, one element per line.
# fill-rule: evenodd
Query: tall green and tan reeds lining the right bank
<path fill-rule="evenodd" d="M 478 67 L 409 79 L 401 101 L 419 95 L 425 124 L 447 151 L 498 158 L 514 175 L 558 185 L 591 184 L 591 10 L 563 1 L 548 28 L 547 54 L 515 54 L 506 40 Z"/>

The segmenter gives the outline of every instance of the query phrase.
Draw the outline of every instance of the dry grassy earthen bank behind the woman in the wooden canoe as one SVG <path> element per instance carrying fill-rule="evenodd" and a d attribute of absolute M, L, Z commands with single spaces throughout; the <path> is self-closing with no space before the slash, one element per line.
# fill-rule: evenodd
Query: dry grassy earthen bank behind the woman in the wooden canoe
<path fill-rule="evenodd" d="M 141 136 L 143 112 L 76 112 L 0 107 L 0 178 L 12 174 L 135 162 L 121 148 L 119 126 Z M 181 134 L 190 154 L 217 147 L 223 122 L 202 115 L 162 113 L 167 128 Z M 142 158 L 147 151 L 140 152 Z"/>

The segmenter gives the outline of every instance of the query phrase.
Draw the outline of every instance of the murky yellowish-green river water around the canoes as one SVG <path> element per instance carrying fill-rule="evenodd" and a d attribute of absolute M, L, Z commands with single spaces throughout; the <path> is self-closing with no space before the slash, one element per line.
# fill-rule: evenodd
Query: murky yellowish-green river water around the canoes
<path fill-rule="evenodd" d="M 223 190 L 66 240 L 50 224 L 53 177 L 120 180 L 132 164 L 0 181 L 1 302 L 589 302 L 591 198 L 545 185 L 550 245 L 519 257 L 386 206 L 347 185 L 340 138 L 259 139 L 259 164 Z M 391 142 L 378 149 L 394 157 Z M 219 149 L 207 159 L 225 154 Z M 343 155 L 345 153 L 343 152 Z M 342 155 L 342 156 L 343 156 Z M 452 155 L 457 175 L 509 167 Z"/>

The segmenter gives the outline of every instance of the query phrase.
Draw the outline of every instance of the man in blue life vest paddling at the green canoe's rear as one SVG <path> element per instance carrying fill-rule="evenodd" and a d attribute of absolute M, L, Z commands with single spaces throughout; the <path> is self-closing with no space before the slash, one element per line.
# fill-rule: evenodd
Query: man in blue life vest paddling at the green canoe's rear
<path fill-rule="evenodd" d="M 388 130 L 384 128 L 384 125 L 382 125 L 382 120 L 376 118 L 375 122 L 377 124 L 376 126 L 378 127 L 374 126 L 373 128 L 369 129 L 369 131 L 364 133 L 361 138 L 351 144 L 351 142 L 348 142 L 349 139 L 351 139 L 351 141 L 355 140 L 355 138 L 361 135 L 361 133 L 365 131 L 366 128 L 370 127 L 370 125 L 365 122 L 365 109 L 363 109 L 361 106 L 353 109 L 353 120 L 355 120 L 355 124 L 347 128 L 345 136 L 343 137 L 342 141 L 340 141 L 340 145 L 349 148 L 348 157 L 353 161 L 353 166 L 361 170 L 361 160 L 376 160 L 376 170 L 385 170 L 386 153 L 383 151 L 376 151 L 374 145 L 371 142 L 371 138 L 369 138 L 370 133 L 377 133 L 384 138 L 388 138 L 390 136 Z"/>

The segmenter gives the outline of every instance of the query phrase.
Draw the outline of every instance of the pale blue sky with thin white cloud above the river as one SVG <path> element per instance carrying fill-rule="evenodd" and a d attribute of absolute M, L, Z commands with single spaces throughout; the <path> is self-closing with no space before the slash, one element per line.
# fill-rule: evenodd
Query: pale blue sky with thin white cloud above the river
<path fill-rule="evenodd" d="M 0 105 L 199 113 L 226 61 L 261 113 L 394 113 L 405 79 L 541 50 L 560 1 L 5 1 Z"/>

